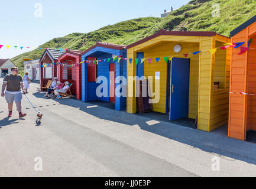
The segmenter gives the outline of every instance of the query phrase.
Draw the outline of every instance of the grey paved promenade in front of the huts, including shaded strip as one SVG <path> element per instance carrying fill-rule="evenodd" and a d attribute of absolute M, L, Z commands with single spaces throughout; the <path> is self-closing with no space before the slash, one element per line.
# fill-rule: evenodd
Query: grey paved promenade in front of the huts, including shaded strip
<path fill-rule="evenodd" d="M 41 125 L 25 97 L 26 119 L 17 112 L 8 119 L 0 98 L 0 177 L 256 175 L 255 144 L 74 99 L 43 99 L 37 87 L 31 84 L 28 97 L 44 114 Z M 35 171 L 38 157 L 42 171 Z"/>

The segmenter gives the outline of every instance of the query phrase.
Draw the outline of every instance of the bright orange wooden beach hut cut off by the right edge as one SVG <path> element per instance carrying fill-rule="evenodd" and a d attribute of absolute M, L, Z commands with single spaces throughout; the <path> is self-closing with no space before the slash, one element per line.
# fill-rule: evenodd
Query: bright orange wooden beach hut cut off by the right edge
<path fill-rule="evenodd" d="M 240 47 L 231 54 L 228 136 L 245 140 L 256 131 L 256 16 L 231 31 L 231 41 Z"/>

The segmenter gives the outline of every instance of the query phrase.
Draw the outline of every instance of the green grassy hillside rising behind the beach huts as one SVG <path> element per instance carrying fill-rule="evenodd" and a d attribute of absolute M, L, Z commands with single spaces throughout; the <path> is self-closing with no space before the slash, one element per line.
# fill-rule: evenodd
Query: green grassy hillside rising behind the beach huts
<path fill-rule="evenodd" d="M 40 47 L 86 50 L 96 41 L 128 45 L 165 28 L 168 30 L 215 31 L 229 36 L 229 32 L 256 15 L 255 0 L 193 0 L 171 12 L 167 18 L 138 18 L 108 25 L 86 34 L 73 33 L 54 38 Z M 220 17 L 213 17 L 213 10 L 220 8 Z M 168 24 L 168 23 L 173 24 Z M 174 27 L 175 25 L 175 27 Z M 23 58 L 40 58 L 44 50 L 34 50 L 12 58 L 24 69 Z"/>

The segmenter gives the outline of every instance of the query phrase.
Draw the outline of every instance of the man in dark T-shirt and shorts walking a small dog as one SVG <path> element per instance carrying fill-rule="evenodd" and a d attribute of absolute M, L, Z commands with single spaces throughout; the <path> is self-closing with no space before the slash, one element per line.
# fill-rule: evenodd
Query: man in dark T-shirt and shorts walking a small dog
<path fill-rule="evenodd" d="M 21 112 L 22 93 L 25 94 L 23 80 L 21 75 L 18 74 L 17 67 L 12 67 L 11 71 L 12 71 L 11 74 L 7 74 L 4 77 L 1 96 L 5 97 L 5 100 L 8 103 L 8 109 L 9 109 L 8 117 L 12 116 L 12 106 L 15 100 L 15 103 L 19 112 L 19 117 L 24 118 L 26 114 Z M 7 87 L 6 91 L 5 91 L 5 87 Z M 22 89 L 22 93 L 21 93 L 21 89 Z"/>

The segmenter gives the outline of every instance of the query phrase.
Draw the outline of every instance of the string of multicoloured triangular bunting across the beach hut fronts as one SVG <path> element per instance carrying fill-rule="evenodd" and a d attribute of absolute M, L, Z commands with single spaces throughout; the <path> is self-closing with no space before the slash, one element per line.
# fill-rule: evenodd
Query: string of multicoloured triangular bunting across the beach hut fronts
<path fill-rule="evenodd" d="M 243 44 L 245 43 L 248 43 L 248 47 L 241 47 Z M 221 48 L 222 50 L 226 50 L 226 48 L 229 48 L 229 47 L 234 47 L 234 48 L 239 48 L 241 47 L 241 50 L 240 50 L 240 53 L 239 55 L 245 53 L 245 51 L 248 51 L 249 49 L 253 49 L 255 50 L 255 54 L 256 54 L 256 49 L 255 48 L 249 48 L 249 46 L 252 44 L 252 40 L 249 40 L 249 41 L 245 41 L 245 42 L 239 42 L 239 43 L 226 43 L 224 44 L 225 46 L 223 47 L 217 47 L 217 48 L 212 48 L 212 49 L 209 49 L 209 50 L 205 50 L 205 51 L 196 51 L 196 52 L 193 52 L 193 53 L 186 53 L 186 54 L 176 54 L 174 56 L 167 56 L 167 57 L 157 57 L 157 58 L 121 58 L 121 57 L 118 57 L 118 56 L 115 56 L 115 57 L 112 57 L 112 58 L 107 58 L 107 59 L 103 59 L 103 60 L 85 60 L 85 61 L 82 61 L 80 63 L 76 63 L 76 64 L 63 64 L 63 63 L 51 63 L 51 64 L 44 64 L 42 65 L 42 67 L 46 67 L 46 66 L 66 66 L 68 67 L 69 69 L 74 67 L 74 66 L 79 66 L 79 64 L 83 64 L 83 63 L 87 63 L 87 64 L 98 64 L 99 62 L 106 62 L 108 63 L 109 61 L 116 61 L 117 58 L 118 58 L 118 63 L 121 61 L 121 60 L 129 60 L 129 63 L 131 64 L 132 63 L 132 60 L 135 60 L 135 63 L 138 64 L 140 62 L 140 64 L 144 63 L 145 60 L 148 61 L 148 64 L 151 64 L 152 60 L 155 59 L 155 61 L 158 63 L 160 61 L 161 58 L 164 59 L 164 61 L 166 61 L 166 63 L 168 63 L 168 61 L 171 61 L 171 59 L 173 57 L 177 57 L 177 56 L 184 56 L 184 58 L 188 57 L 190 54 L 193 54 L 193 55 L 196 55 L 196 54 L 199 54 L 199 53 L 206 53 L 206 52 L 210 52 L 211 54 L 215 54 L 217 49 L 218 48 Z"/>

